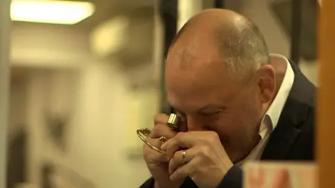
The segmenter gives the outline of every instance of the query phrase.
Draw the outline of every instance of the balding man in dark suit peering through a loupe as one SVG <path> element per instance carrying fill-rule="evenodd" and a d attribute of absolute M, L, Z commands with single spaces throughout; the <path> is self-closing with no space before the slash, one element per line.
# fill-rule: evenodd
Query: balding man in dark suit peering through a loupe
<path fill-rule="evenodd" d="M 168 156 L 144 146 L 152 178 L 142 187 L 239 188 L 246 161 L 314 159 L 315 86 L 269 55 L 245 17 L 211 9 L 191 18 L 170 47 L 165 83 L 185 132 L 156 116 L 148 140 Z"/>

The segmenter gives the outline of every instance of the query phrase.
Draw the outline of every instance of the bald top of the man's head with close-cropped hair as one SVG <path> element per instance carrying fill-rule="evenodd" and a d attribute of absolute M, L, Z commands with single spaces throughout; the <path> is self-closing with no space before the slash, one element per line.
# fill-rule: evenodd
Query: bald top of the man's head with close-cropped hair
<path fill-rule="evenodd" d="M 258 67 L 269 63 L 267 45 L 258 26 L 231 10 L 209 9 L 195 15 L 181 28 L 170 49 L 199 38 L 211 40 L 229 77 L 250 79 Z"/>

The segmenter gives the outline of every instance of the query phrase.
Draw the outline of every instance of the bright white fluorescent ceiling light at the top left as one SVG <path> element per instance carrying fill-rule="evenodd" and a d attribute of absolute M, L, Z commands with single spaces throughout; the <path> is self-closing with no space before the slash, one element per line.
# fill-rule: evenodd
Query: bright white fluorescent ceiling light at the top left
<path fill-rule="evenodd" d="M 13 0 L 13 21 L 47 24 L 77 24 L 93 15 L 94 4 L 81 1 Z"/>

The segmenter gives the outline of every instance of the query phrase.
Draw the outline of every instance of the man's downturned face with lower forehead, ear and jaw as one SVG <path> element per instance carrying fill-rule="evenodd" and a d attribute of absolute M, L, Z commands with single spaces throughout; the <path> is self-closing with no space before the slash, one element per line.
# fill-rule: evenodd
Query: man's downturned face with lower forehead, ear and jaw
<path fill-rule="evenodd" d="M 170 50 L 165 84 L 181 126 L 217 132 L 232 162 L 238 162 L 258 138 L 264 102 L 258 81 L 238 84 L 226 75 L 221 55 L 210 45 L 179 44 Z"/>

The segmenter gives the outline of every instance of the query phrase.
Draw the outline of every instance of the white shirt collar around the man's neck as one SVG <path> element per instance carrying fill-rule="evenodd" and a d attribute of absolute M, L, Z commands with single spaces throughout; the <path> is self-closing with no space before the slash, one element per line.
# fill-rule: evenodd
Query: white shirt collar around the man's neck
<path fill-rule="evenodd" d="M 276 128 L 278 120 L 281 116 L 281 111 L 283 111 L 283 107 L 293 86 L 293 81 L 295 80 L 295 72 L 293 72 L 292 66 L 290 65 L 288 59 L 285 58 L 285 56 L 279 54 L 270 54 L 270 57 L 274 61 L 285 61 L 287 63 L 287 68 L 283 82 L 281 83 L 281 87 L 279 88 L 274 101 L 270 105 L 269 109 L 267 109 L 267 112 L 265 113 L 265 116 L 260 123 L 259 134 L 262 139 L 264 139 L 266 134 L 272 132 Z"/>

